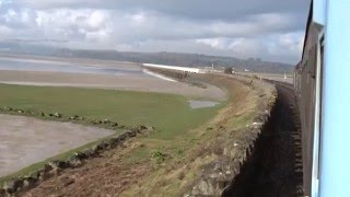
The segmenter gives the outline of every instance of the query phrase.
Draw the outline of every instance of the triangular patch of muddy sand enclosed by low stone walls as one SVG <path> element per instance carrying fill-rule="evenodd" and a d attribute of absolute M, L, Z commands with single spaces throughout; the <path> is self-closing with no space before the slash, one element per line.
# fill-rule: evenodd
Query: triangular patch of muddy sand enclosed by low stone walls
<path fill-rule="evenodd" d="M 0 177 L 112 134 L 72 123 L 0 114 Z"/>

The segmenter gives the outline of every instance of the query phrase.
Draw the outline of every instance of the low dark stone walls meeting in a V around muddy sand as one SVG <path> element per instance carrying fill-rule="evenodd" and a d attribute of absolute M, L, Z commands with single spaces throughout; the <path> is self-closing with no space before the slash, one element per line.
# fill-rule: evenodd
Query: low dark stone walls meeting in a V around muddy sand
<path fill-rule="evenodd" d="M 28 116 L 43 116 L 48 118 L 58 118 L 60 120 L 70 120 L 73 123 L 89 123 L 91 125 L 109 128 L 109 129 L 126 129 L 125 132 L 121 135 L 114 135 L 107 139 L 102 140 L 100 143 L 88 148 L 83 151 L 75 152 L 71 158 L 68 160 L 52 160 L 44 164 L 44 166 L 37 171 L 34 171 L 25 176 L 21 177 L 14 177 L 11 181 L 8 181 L 3 184 L 2 187 L 0 187 L 0 197 L 2 196 L 14 196 L 15 194 L 33 188 L 37 186 L 40 182 L 57 175 L 59 172 L 66 170 L 66 169 L 73 169 L 79 167 L 83 164 L 85 160 L 89 160 L 91 158 L 94 158 L 102 153 L 103 151 L 116 148 L 120 144 L 122 144 L 127 139 L 137 137 L 140 134 L 144 134 L 148 131 L 153 130 L 153 127 L 147 127 L 143 125 L 139 125 L 137 127 L 125 127 L 119 126 L 117 123 L 104 119 L 104 120 L 97 120 L 97 119 L 86 119 L 84 117 L 74 115 L 74 116 L 67 116 L 65 117 L 62 114 L 59 113 L 52 113 L 52 114 L 46 114 L 43 112 L 34 113 L 23 109 L 15 109 L 11 107 L 0 107 L 0 112 L 12 114 L 12 115 L 28 115 Z"/>

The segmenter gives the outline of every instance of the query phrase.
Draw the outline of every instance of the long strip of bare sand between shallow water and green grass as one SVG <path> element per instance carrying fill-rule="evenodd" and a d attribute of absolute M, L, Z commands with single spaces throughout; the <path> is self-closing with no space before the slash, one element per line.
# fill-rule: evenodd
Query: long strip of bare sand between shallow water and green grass
<path fill-rule="evenodd" d="M 131 90 L 173 93 L 213 101 L 226 100 L 225 92 L 214 85 L 206 84 L 207 88 L 203 89 L 187 83 L 165 81 L 147 76 L 116 77 L 91 73 L 0 70 L 0 83 Z"/>

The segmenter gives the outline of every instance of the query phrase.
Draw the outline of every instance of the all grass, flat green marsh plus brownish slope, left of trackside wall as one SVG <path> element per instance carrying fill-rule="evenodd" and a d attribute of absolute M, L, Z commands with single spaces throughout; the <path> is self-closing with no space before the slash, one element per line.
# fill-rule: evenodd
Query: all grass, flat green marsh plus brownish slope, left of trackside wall
<path fill-rule="evenodd" d="M 258 106 L 264 104 L 258 90 L 231 78 L 210 74 L 195 80 L 224 89 L 228 101 L 191 109 L 187 97 L 173 94 L 0 84 L 0 106 L 156 127 L 67 172 L 82 179 L 77 183 L 79 187 L 65 190 L 60 177 L 52 177 L 50 183 L 43 183 L 38 194 L 50 194 L 55 188 L 61 189 L 59 194 L 81 195 L 98 188 L 114 189 L 118 196 L 183 196 L 203 169 L 241 135 L 240 130 L 253 123 Z M 105 183 L 115 184 L 105 188 Z"/>

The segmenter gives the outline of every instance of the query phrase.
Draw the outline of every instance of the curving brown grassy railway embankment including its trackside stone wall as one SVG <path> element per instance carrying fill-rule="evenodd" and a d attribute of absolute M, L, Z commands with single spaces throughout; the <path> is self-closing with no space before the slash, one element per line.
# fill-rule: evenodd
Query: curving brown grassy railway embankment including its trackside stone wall
<path fill-rule="evenodd" d="M 154 138 L 159 131 L 140 135 L 25 195 L 220 196 L 230 190 L 256 160 L 277 90 L 264 81 L 226 74 L 194 74 L 184 81 L 219 86 L 228 101 L 198 128 L 170 140 Z"/>

